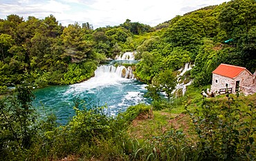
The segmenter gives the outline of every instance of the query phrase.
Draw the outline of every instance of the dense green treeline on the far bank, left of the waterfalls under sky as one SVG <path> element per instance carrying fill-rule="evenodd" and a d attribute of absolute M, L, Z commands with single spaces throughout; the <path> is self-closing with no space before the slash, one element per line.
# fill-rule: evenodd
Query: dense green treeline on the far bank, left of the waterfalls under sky
<path fill-rule="evenodd" d="M 0 19 L 0 91 L 25 80 L 35 87 L 82 82 L 94 75 L 102 59 L 134 50 L 133 35 L 152 30 L 129 19 L 93 30 L 88 22 L 64 27 L 53 15 L 26 21 L 8 15 Z"/>

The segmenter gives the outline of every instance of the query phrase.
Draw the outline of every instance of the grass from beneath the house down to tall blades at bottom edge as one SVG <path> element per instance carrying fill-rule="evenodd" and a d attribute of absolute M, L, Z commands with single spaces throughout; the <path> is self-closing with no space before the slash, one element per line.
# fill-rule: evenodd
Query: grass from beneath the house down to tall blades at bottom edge
<path fill-rule="evenodd" d="M 191 154 L 189 153 L 191 149 L 183 149 L 183 147 L 196 147 L 196 144 L 201 141 L 196 134 L 190 116 L 185 111 L 185 106 L 191 110 L 201 107 L 202 95 L 200 91 L 200 89 L 188 89 L 185 97 L 173 100 L 171 108 L 153 111 L 154 117 L 148 117 L 148 114 L 145 117 L 138 115 L 127 129 L 127 139 L 120 142 L 123 145 L 113 147 L 114 144 L 107 142 L 106 146 L 102 146 L 104 151 L 101 152 L 101 155 L 109 157 L 109 160 L 146 160 L 149 156 L 152 160 L 164 160 L 163 158 L 169 155 L 170 157 L 174 156 L 170 160 L 179 160 L 187 155 L 193 155 L 192 158 L 197 160 L 199 151 L 197 151 L 198 153 L 192 151 Z M 230 96 L 236 97 L 235 95 Z M 221 107 L 226 104 L 227 98 L 226 95 L 219 95 L 215 98 L 206 98 L 206 100 L 212 102 L 212 107 Z M 241 108 L 246 108 L 251 103 L 256 106 L 256 94 L 248 97 L 241 96 L 239 100 L 241 100 Z M 143 105 L 143 107 L 147 107 L 147 105 Z M 170 133 L 171 131 L 174 133 Z M 177 135 L 179 131 L 183 131 L 185 138 Z M 255 138 L 255 135 L 253 137 Z M 167 149 L 165 149 L 166 146 L 168 146 Z M 91 158 L 84 158 L 84 160 L 106 160 L 104 157 L 97 158 L 93 155 Z"/>

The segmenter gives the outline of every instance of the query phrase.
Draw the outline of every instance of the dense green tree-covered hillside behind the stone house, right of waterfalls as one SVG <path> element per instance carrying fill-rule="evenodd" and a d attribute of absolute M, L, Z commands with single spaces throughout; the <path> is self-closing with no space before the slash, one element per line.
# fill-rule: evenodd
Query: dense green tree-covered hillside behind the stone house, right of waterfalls
<path fill-rule="evenodd" d="M 244 66 L 254 73 L 255 16 L 250 16 L 254 10 L 255 1 L 229 1 L 167 21 L 168 27 L 137 47 L 141 61 L 136 76 L 150 83 L 162 70 L 177 70 L 188 61 L 195 64 L 191 76 L 196 86 L 210 84 L 212 71 L 221 63 Z M 231 38 L 231 44 L 224 44 Z"/>

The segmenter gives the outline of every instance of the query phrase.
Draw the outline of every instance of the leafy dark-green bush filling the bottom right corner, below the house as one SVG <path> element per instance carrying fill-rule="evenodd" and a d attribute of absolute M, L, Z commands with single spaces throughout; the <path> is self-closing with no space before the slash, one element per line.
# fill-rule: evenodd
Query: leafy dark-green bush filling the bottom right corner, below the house
<path fill-rule="evenodd" d="M 241 104 L 244 102 L 227 95 L 224 103 L 203 100 L 200 109 L 187 109 L 199 137 L 202 160 L 253 160 L 256 106 Z"/>

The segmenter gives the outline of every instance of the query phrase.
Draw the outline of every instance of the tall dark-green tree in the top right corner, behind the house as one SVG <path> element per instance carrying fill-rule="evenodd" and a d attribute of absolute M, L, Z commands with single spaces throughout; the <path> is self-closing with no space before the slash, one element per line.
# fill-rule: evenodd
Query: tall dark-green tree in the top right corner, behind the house
<path fill-rule="evenodd" d="M 255 26 L 256 2 L 253 0 L 234 0 L 223 5 L 219 13 L 219 26 L 226 32 L 228 39 L 233 39 L 232 47 L 236 47 L 235 53 L 228 55 L 234 65 L 245 66 L 251 72 L 255 71 Z M 222 39 L 224 41 L 226 39 Z"/>

